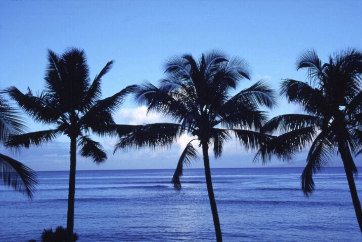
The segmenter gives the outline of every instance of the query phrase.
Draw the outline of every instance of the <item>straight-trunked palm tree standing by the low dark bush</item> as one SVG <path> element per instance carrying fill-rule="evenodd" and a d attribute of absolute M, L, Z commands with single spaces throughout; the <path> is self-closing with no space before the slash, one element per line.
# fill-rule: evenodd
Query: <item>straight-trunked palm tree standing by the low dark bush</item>
<path fill-rule="evenodd" d="M 76 152 L 89 157 L 96 164 L 104 163 L 107 154 L 103 146 L 90 134 L 105 134 L 107 125 L 114 125 L 112 112 L 134 90 L 129 86 L 111 97 L 101 98 L 101 78 L 110 70 L 110 61 L 91 83 L 89 68 L 83 50 L 70 48 L 61 56 L 48 50 L 48 68 L 45 89 L 37 95 L 28 89 L 27 94 L 10 87 L 7 92 L 36 122 L 53 125 L 54 129 L 12 136 L 8 146 L 29 148 L 41 145 L 64 134 L 70 138 L 70 172 L 67 213 L 67 241 L 74 228 L 74 193 Z"/>

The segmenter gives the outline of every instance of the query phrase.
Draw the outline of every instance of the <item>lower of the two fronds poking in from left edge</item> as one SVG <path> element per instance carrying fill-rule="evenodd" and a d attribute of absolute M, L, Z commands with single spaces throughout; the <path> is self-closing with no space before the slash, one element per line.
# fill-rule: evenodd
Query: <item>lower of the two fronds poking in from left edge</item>
<path fill-rule="evenodd" d="M 0 154 L 0 184 L 26 194 L 30 199 L 38 184 L 36 173 L 17 160 Z"/>

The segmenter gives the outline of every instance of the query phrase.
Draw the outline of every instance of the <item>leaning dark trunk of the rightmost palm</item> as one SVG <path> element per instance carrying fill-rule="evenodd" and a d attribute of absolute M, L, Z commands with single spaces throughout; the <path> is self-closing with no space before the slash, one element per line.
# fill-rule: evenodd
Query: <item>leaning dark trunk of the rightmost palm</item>
<path fill-rule="evenodd" d="M 346 172 L 349 191 L 351 193 L 352 203 L 353 203 L 353 207 L 354 207 L 354 212 L 356 213 L 359 230 L 362 233 L 362 209 L 361 209 L 361 205 L 360 205 L 358 194 L 357 194 L 356 184 L 355 184 L 354 178 L 353 178 L 353 171 L 352 171 L 351 166 L 349 165 L 351 162 L 353 162 L 352 155 L 348 148 L 346 149 L 346 148 L 340 147 L 339 152 L 340 152 L 342 160 L 343 160 L 343 167 L 344 167 L 344 171 Z"/>

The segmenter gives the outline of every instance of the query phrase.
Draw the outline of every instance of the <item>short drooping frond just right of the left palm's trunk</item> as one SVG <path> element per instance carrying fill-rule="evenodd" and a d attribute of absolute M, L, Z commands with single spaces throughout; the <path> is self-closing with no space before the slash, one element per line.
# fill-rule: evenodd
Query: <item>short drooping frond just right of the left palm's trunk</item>
<path fill-rule="evenodd" d="M 83 157 L 91 157 L 97 165 L 106 162 L 107 153 L 101 143 L 94 141 L 90 136 L 80 136 L 78 139 L 79 155 Z"/>

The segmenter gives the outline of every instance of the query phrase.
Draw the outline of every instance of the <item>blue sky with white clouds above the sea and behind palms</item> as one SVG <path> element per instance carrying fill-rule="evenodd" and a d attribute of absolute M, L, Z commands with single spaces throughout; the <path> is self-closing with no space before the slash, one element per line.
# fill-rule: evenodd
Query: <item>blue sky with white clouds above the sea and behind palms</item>
<path fill-rule="evenodd" d="M 304 80 L 295 61 L 302 51 L 314 48 L 323 60 L 347 47 L 361 48 L 362 1 L 0 1 L 0 88 L 16 86 L 25 92 L 43 89 L 47 48 L 61 54 L 67 47 L 83 48 L 93 78 L 110 60 L 112 70 L 103 78 L 104 97 L 147 79 L 156 84 L 162 63 L 172 56 L 190 53 L 199 57 L 219 49 L 248 61 L 252 80 L 269 80 L 276 88 L 282 78 Z M 270 113 L 298 112 L 280 101 Z M 115 118 L 119 124 L 143 124 L 160 120 L 145 117 L 145 108 L 127 101 Z M 46 129 L 29 124 L 31 131 Z M 77 169 L 175 168 L 180 140 L 168 151 L 129 151 L 112 155 L 115 140 L 101 139 L 109 160 L 101 166 L 78 157 Z M 7 153 L 7 151 L 4 151 Z M 11 154 L 36 171 L 68 170 L 69 141 L 61 137 L 51 144 Z M 303 165 L 305 155 L 296 159 Z M 258 167 L 252 153 L 235 141 L 211 167 Z M 335 164 L 340 164 L 336 160 Z M 284 165 L 279 161 L 269 166 Z M 193 164 L 201 168 L 202 161 Z"/>

